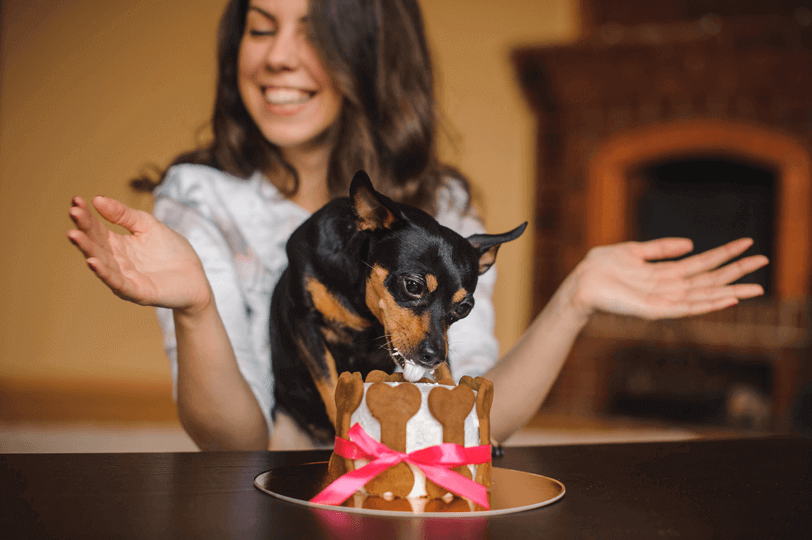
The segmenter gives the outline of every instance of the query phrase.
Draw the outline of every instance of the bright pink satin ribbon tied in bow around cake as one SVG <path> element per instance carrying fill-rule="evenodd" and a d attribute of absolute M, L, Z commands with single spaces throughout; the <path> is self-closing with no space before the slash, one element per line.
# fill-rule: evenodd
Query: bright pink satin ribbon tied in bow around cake
<path fill-rule="evenodd" d="M 491 446 L 466 448 L 459 444 L 442 443 L 416 450 L 409 454 L 396 452 L 370 437 L 364 428 L 355 424 L 350 428 L 352 440 L 336 437 L 335 452 L 347 459 L 368 459 L 370 462 L 336 479 L 321 493 L 310 499 L 312 503 L 340 505 L 353 493 L 378 476 L 384 470 L 398 463 L 411 463 L 435 484 L 452 493 L 470 499 L 490 510 L 488 490 L 465 476 L 449 470 L 461 465 L 478 465 L 491 460 Z"/>

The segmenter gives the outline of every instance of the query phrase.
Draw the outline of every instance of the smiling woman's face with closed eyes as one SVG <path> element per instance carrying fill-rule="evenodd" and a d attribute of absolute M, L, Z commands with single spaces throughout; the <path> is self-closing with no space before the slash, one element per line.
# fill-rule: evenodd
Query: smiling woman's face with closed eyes
<path fill-rule="evenodd" d="M 265 138 L 285 150 L 324 140 L 342 95 L 308 39 L 307 0 L 250 0 L 238 87 Z"/>

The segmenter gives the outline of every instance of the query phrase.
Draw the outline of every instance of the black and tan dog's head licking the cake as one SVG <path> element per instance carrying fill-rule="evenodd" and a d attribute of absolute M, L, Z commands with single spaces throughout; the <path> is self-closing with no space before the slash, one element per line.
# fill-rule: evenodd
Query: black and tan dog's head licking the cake
<path fill-rule="evenodd" d="M 375 191 L 363 171 L 353 178 L 350 202 L 356 227 L 369 236 L 366 305 L 384 327 L 392 358 L 407 378 L 419 379 L 445 361 L 448 327 L 474 307 L 478 276 L 527 223 L 505 234 L 463 238 Z"/>

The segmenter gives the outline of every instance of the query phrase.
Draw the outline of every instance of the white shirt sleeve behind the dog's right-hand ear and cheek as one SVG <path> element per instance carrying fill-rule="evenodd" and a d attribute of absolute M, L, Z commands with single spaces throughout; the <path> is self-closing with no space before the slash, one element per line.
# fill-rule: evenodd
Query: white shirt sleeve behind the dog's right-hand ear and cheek
<path fill-rule="evenodd" d="M 464 238 L 485 232 L 482 221 L 468 205 L 465 190 L 453 179 L 440 191 L 437 220 Z M 495 284 L 496 265 L 479 276 L 471 313 L 448 329 L 449 366 L 457 381 L 463 375 L 484 375 L 499 358 L 499 342 L 494 334 Z"/>

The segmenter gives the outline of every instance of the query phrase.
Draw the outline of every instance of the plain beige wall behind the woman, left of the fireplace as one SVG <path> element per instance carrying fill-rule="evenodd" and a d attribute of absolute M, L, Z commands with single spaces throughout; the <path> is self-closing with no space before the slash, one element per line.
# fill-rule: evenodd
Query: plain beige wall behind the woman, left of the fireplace
<path fill-rule="evenodd" d="M 0 4 L 0 380 L 166 385 L 152 309 L 118 300 L 92 276 L 65 237 L 67 210 L 75 194 L 150 208 L 125 181 L 188 149 L 207 119 L 223 4 Z M 534 121 L 510 50 L 572 39 L 576 4 L 423 2 L 456 133 L 443 152 L 470 175 L 494 232 L 532 215 Z M 500 252 L 503 348 L 528 322 L 530 240 Z"/>

